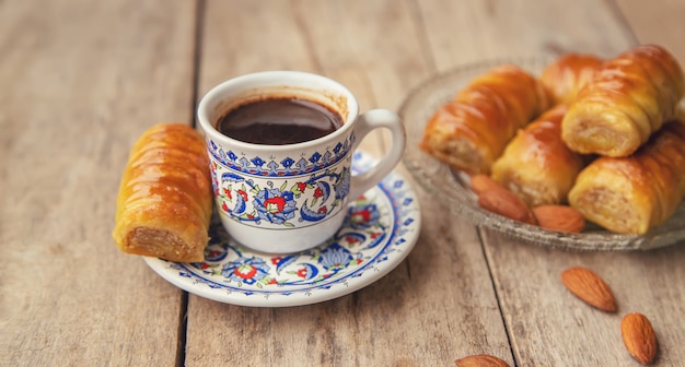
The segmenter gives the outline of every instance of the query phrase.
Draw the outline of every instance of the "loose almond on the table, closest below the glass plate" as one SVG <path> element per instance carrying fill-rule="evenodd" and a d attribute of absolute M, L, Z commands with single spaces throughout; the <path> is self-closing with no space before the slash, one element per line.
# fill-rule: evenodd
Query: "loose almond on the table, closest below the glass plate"
<path fill-rule="evenodd" d="M 576 267 L 561 273 L 561 282 L 578 298 L 603 311 L 616 311 L 616 299 L 606 282 L 592 270 Z"/>

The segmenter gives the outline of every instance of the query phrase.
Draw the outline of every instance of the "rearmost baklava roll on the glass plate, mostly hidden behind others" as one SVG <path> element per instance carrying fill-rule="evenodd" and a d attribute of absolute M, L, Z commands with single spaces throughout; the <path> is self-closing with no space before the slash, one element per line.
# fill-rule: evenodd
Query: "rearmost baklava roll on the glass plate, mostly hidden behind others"
<path fill-rule="evenodd" d="M 539 81 L 555 105 L 568 104 L 576 99 L 578 92 L 600 70 L 604 61 L 587 54 L 566 54 L 547 66 Z"/>

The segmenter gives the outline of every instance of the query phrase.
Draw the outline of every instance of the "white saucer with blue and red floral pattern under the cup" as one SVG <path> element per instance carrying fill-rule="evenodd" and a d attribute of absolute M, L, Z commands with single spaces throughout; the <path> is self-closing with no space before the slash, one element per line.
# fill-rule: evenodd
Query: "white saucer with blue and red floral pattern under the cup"
<path fill-rule="evenodd" d="M 374 158 L 356 152 L 353 170 Z M 143 258 L 160 276 L 200 297 L 252 307 L 321 303 L 383 277 L 409 254 L 420 229 L 410 183 L 393 171 L 348 205 L 340 229 L 323 245 L 298 253 L 256 252 L 237 244 L 214 213 L 205 261 L 181 263 Z"/>

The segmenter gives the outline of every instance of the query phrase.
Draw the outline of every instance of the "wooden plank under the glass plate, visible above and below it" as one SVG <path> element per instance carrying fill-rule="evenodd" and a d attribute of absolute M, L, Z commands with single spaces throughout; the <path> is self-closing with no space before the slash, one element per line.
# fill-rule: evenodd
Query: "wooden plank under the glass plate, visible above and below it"
<path fill-rule="evenodd" d="M 632 31 L 611 3 L 419 4 L 439 70 L 478 59 L 567 51 L 612 57 L 636 44 Z M 640 2 L 640 7 L 648 5 Z M 682 246 L 648 253 L 576 253 L 518 244 L 487 230 L 483 238 L 518 365 L 628 365 L 631 358 L 619 330 L 620 317 L 628 311 L 642 311 L 663 325 L 663 365 L 682 357 L 674 352 L 685 329 L 675 319 L 683 315 L 678 306 L 683 303 Z M 571 296 L 559 281 L 561 271 L 571 265 L 587 265 L 605 275 L 617 294 L 619 312 L 595 311 Z"/>

